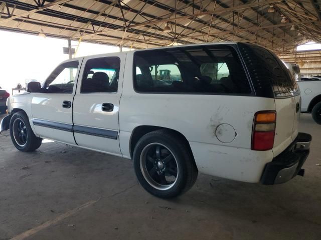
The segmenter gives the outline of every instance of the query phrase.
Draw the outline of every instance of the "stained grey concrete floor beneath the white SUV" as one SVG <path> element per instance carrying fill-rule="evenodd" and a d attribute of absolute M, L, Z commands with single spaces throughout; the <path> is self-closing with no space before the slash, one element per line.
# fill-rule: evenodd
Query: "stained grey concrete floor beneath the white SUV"
<path fill-rule="evenodd" d="M 305 176 L 274 186 L 199 174 L 186 194 L 158 199 L 129 160 L 47 142 L 18 151 L 0 135 L 0 239 L 321 239 L 321 126 Z"/>

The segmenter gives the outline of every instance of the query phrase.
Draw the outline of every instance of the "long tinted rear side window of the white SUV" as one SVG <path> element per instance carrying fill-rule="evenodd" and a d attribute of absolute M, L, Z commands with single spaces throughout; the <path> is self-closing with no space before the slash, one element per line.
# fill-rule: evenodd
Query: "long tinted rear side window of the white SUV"
<path fill-rule="evenodd" d="M 251 93 L 235 49 L 225 45 L 137 51 L 133 71 L 138 92 Z"/>

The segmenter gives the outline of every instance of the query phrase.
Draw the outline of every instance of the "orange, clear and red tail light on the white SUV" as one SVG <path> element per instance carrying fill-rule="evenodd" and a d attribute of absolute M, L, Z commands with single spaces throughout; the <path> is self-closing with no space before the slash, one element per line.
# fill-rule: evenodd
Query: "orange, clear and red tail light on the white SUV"
<path fill-rule="evenodd" d="M 252 150 L 265 151 L 273 148 L 275 122 L 275 111 L 258 111 L 255 113 L 252 134 Z"/>

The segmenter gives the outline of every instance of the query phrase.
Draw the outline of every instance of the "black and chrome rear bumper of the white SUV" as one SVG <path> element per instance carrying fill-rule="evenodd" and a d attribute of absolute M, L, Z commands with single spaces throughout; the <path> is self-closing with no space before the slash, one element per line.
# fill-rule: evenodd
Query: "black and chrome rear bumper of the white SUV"
<path fill-rule="evenodd" d="M 292 179 L 298 173 L 303 175 L 301 167 L 309 154 L 310 142 L 310 134 L 299 132 L 283 152 L 265 165 L 261 183 L 279 184 Z"/>

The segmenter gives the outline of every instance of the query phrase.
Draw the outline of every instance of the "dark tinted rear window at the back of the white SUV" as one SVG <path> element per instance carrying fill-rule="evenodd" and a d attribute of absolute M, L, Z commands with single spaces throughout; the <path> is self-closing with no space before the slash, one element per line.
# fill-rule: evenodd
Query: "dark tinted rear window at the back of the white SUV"
<path fill-rule="evenodd" d="M 288 97 L 299 92 L 296 81 L 274 53 L 251 43 L 238 45 L 257 96 Z"/>

